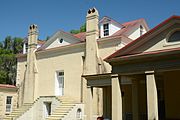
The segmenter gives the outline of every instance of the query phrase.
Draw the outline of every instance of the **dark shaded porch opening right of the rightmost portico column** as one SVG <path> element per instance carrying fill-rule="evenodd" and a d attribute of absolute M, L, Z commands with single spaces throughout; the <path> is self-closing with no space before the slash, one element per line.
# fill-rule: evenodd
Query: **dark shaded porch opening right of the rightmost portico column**
<path fill-rule="evenodd" d="M 180 120 L 180 71 L 158 73 L 156 85 L 158 90 L 159 120 Z"/>

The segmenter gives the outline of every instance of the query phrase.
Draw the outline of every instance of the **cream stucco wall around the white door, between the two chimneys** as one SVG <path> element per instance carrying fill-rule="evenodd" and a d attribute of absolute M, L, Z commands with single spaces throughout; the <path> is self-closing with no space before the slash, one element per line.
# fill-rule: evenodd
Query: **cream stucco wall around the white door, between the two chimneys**
<path fill-rule="evenodd" d="M 39 54 L 37 57 L 37 96 L 55 95 L 56 71 L 64 71 L 64 95 L 71 96 L 79 101 L 83 55 L 82 50 L 78 50 L 78 52 L 70 51 L 70 54 L 63 54 L 62 51 Z"/>

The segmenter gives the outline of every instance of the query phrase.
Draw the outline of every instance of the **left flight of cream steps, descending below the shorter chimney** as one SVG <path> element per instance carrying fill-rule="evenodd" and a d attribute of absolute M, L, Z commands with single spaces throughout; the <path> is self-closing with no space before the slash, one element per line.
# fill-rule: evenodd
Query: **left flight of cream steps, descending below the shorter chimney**
<path fill-rule="evenodd" d="M 24 105 L 22 105 L 20 108 L 16 108 L 12 111 L 11 114 L 7 115 L 3 120 L 15 120 L 17 119 L 19 116 L 21 116 L 23 113 L 25 113 L 26 111 L 28 111 L 31 106 L 33 105 L 33 103 L 25 103 Z"/>

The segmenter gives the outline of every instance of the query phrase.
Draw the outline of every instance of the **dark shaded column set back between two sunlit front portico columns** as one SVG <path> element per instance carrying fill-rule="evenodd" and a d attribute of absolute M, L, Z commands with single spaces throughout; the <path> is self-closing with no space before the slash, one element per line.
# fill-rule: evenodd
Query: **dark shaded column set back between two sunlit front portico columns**
<path fill-rule="evenodd" d="M 132 114 L 133 120 L 139 120 L 138 112 L 138 81 L 136 79 L 132 80 Z"/>

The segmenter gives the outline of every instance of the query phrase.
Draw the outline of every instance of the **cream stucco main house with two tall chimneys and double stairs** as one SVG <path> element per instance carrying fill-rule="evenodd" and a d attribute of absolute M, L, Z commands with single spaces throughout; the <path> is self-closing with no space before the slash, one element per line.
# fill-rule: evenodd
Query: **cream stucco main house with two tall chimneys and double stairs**
<path fill-rule="evenodd" d="M 17 56 L 18 108 L 4 119 L 96 120 L 104 116 L 110 120 L 111 108 L 100 87 L 108 83 L 93 88 L 82 76 L 110 74 L 111 65 L 104 59 L 148 30 L 144 19 L 123 24 L 109 17 L 99 21 L 98 11 L 92 8 L 86 16 L 86 33 L 58 31 L 39 46 L 38 27 L 31 25 L 25 54 Z"/>

